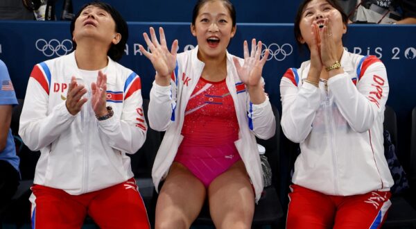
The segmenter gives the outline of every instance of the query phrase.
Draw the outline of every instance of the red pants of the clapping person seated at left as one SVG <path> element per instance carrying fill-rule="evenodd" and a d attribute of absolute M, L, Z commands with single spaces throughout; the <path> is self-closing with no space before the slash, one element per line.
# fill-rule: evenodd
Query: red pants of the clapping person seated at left
<path fill-rule="evenodd" d="M 135 179 L 73 196 L 33 185 L 32 228 L 81 228 L 88 214 L 100 228 L 150 228 Z"/>

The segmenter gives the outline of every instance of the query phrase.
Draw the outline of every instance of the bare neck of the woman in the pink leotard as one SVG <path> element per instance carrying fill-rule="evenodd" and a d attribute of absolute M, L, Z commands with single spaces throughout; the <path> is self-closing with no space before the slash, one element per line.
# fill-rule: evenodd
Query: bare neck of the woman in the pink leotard
<path fill-rule="evenodd" d="M 205 63 L 202 70 L 202 78 L 212 82 L 218 82 L 227 77 L 227 56 L 220 58 L 201 58 L 198 53 L 198 58 Z"/>

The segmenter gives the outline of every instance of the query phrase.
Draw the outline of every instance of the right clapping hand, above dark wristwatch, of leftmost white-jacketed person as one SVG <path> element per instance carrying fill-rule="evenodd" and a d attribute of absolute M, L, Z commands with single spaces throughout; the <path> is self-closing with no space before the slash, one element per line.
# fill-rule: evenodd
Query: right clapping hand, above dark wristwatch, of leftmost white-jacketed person
<path fill-rule="evenodd" d="M 105 106 L 107 103 L 107 75 L 98 71 L 97 81 L 91 84 L 91 90 L 92 110 L 98 117 L 103 117 L 107 114 L 107 107 Z"/>

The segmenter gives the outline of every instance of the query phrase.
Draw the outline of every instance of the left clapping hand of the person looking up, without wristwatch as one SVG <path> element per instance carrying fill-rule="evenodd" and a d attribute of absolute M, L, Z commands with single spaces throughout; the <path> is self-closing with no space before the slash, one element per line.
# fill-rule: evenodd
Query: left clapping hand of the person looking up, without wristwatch
<path fill-rule="evenodd" d="M 87 89 L 84 85 L 78 85 L 75 76 L 72 76 L 71 83 L 69 83 L 68 87 L 67 101 L 65 102 L 70 114 L 75 115 L 80 112 L 84 103 L 87 101 L 86 98 L 83 98 L 85 93 L 87 93 Z"/>

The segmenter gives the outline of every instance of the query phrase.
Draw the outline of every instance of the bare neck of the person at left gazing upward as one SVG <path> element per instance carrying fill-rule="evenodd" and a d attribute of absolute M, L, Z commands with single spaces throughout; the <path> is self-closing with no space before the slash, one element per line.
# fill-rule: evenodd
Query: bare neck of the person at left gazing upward
<path fill-rule="evenodd" d="M 79 69 L 98 70 L 108 65 L 107 48 L 96 44 L 77 44 L 75 60 Z"/>

